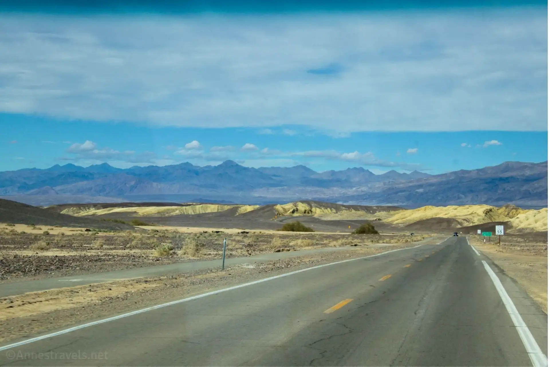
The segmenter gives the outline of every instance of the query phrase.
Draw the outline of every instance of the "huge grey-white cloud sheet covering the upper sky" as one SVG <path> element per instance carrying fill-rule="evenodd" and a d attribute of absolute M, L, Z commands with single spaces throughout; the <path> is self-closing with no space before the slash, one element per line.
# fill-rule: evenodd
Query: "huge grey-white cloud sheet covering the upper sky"
<path fill-rule="evenodd" d="M 547 130 L 545 6 L 384 17 L 4 13 L 0 24 L 0 112 L 339 133 Z"/>

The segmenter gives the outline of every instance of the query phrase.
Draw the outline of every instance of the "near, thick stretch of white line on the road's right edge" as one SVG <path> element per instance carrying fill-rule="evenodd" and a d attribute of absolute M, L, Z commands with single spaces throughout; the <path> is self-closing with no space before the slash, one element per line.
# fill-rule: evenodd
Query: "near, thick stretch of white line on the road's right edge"
<path fill-rule="evenodd" d="M 546 355 L 544 355 L 541 348 L 538 346 L 537 341 L 535 340 L 535 338 L 533 338 L 529 327 L 525 325 L 525 322 L 521 318 L 518 309 L 516 309 L 514 302 L 512 302 L 510 296 L 508 295 L 508 293 L 506 293 L 506 290 L 502 286 L 500 279 L 494 273 L 493 269 L 491 269 L 491 267 L 487 265 L 487 262 L 485 262 L 484 260 L 482 260 L 482 262 L 483 266 L 485 266 L 485 270 L 487 271 L 487 273 L 489 273 L 489 277 L 491 277 L 494 286 L 497 288 L 497 292 L 500 295 L 502 302 L 506 306 L 512 322 L 514 322 L 514 326 L 516 327 L 519 337 L 521 338 L 521 341 L 525 346 L 525 350 L 527 350 L 527 354 L 529 354 L 529 358 L 531 358 L 531 363 L 535 367 L 547 367 L 548 359 L 546 358 Z"/>

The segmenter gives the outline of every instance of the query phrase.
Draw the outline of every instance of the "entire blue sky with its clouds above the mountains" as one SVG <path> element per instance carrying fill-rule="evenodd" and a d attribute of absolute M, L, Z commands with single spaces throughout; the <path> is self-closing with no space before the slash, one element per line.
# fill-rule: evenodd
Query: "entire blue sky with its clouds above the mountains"
<path fill-rule="evenodd" d="M 34 4 L 0 12 L 2 171 L 547 160 L 544 4 Z"/>

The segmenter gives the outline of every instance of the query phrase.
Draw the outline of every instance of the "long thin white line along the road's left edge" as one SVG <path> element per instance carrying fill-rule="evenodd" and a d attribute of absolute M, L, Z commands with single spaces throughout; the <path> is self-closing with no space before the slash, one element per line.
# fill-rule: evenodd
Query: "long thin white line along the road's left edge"
<path fill-rule="evenodd" d="M 445 239 L 445 240 L 447 240 L 447 239 Z M 441 243 L 443 243 L 445 240 L 443 240 Z M 441 244 L 441 243 L 439 243 L 439 244 Z M 408 247 L 408 248 L 403 248 L 403 249 L 389 250 L 389 251 L 386 251 L 386 252 L 383 252 L 383 253 L 379 253 L 379 254 L 375 254 L 375 255 L 363 256 L 363 257 L 361 257 L 361 258 L 355 258 L 355 259 L 348 259 L 348 260 L 342 260 L 342 261 L 337 261 L 337 262 L 331 262 L 331 263 L 329 263 L 329 264 L 317 265 L 317 266 L 313 266 L 313 267 L 306 267 L 306 269 L 295 270 L 295 271 L 291 271 L 291 272 L 289 272 L 289 273 L 285 273 L 285 274 L 281 274 L 281 275 L 276 275 L 276 276 L 272 276 L 272 277 L 265 278 L 265 279 L 260 279 L 260 280 L 254 281 L 254 282 L 249 282 L 249 283 L 239 284 L 238 286 L 233 286 L 233 287 L 229 287 L 229 288 L 219 289 L 218 291 L 212 291 L 212 292 L 208 292 L 208 293 L 203 293 L 203 294 L 199 294 L 199 295 L 194 295 L 193 297 L 189 297 L 189 298 L 178 299 L 178 300 L 175 300 L 175 301 L 172 301 L 172 302 L 168 302 L 168 303 L 163 303 L 163 304 L 156 305 L 156 306 L 147 307 L 147 308 L 144 308 L 144 309 L 141 309 L 141 310 L 131 311 L 131 312 L 129 312 L 129 313 L 125 313 L 125 314 L 118 315 L 118 316 L 108 317 L 107 319 L 103 319 L 103 320 L 97 320 L 97 321 L 88 322 L 87 324 L 69 327 L 68 329 L 65 329 L 65 330 L 60 330 L 60 331 L 56 331 L 56 332 L 53 332 L 53 333 L 50 333 L 50 334 L 46 334 L 46 335 L 42 335 L 42 336 L 37 336 L 37 337 L 34 337 L 34 338 L 26 339 L 26 340 L 24 340 L 24 341 L 20 341 L 20 342 L 17 342 L 17 343 L 8 344 L 7 346 L 0 347 L 0 351 L 1 351 L 1 350 L 5 350 L 5 349 L 10 349 L 10 348 L 15 348 L 15 347 L 23 346 L 23 345 L 29 344 L 29 343 L 34 343 L 34 342 L 37 342 L 37 341 L 40 341 L 40 340 L 43 340 L 43 339 L 52 338 L 52 337 L 54 337 L 54 336 L 63 335 L 63 334 L 66 334 L 66 333 L 69 333 L 69 332 L 72 332 L 72 331 L 79 330 L 79 329 L 81 329 L 81 328 L 85 328 L 85 327 L 89 327 L 89 326 L 94 326 L 94 325 L 99 325 L 99 324 L 103 324 L 103 323 L 105 323 L 105 322 L 114 321 L 114 320 L 118 320 L 118 319 L 123 319 L 124 317 L 133 316 L 133 315 L 138 315 L 138 314 L 141 314 L 141 313 L 144 313 L 144 312 L 147 312 L 147 311 L 152 311 L 152 310 L 160 309 L 160 308 L 163 308 L 163 307 L 166 307 L 166 306 L 172 306 L 172 305 L 175 305 L 175 304 L 178 304 L 178 303 L 188 302 L 188 301 L 190 301 L 190 300 L 194 300 L 194 299 L 206 297 L 207 295 L 212 295 L 212 294 L 217 294 L 217 293 L 232 291 L 233 289 L 238 289 L 238 288 L 242 288 L 242 287 L 246 287 L 246 286 L 252 286 L 253 284 L 258 284 L 258 283 L 262 283 L 262 282 L 267 282 L 267 281 L 270 281 L 270 280 L 273 280 L 273 279 L 282 278 L 282 277 L 286 277 L 286 276 L 289 276 L 289 275 L 294 275 L 294 274 L 301 273 L 301 272 L 307 271 L 307 270 L 318 269 L 318 268 L 323 267 L 323 266 L 329 266 L 329 265 L 335 265 L 335 264 L 342 264 L 343 262 L 354 261 L 354 260 L 361 260 L 361 259 L 366 259 L 366 258 L 372 258 L 372 257 L 374 257 L 374 256 L 380 256 L 380 255 L 384 255 L 384 254 L 393 253 L 394 251 L 415 249 L 415 248 L 417 248 L 417 247 L 424 246 L 424 245 L 426 245 L 426 244 L 421 244 L 421 245 L 418 245 L 418 246 L 415 246 L 415 247 Z"/>

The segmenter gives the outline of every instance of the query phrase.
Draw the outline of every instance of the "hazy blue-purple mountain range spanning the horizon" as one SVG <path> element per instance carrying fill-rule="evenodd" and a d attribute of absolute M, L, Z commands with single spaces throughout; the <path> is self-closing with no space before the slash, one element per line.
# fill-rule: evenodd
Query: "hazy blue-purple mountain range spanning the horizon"
<path fill-rule="evenodd" d="M 66 202 L 211 201 L 267 204 L 323 200 L 348 204 L 515 204 L 546 206 L 548 163 L 504 162 L 498 166 L 430 175 L 361 167 L 316 172 L 305 166 L 250 168 L 226 161 L 218 166 L 116 168 L 102 163 L 0 172 L 0 195 L 33 205 Z"/>

